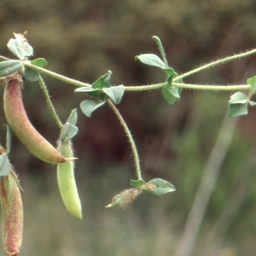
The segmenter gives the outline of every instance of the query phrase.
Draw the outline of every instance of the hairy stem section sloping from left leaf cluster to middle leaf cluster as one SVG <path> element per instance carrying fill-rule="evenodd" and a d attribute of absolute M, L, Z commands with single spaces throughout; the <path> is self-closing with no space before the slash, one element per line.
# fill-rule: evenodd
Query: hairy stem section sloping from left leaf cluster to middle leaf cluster
<path fill-rule="evenodd" d="M 26 67 L 30 67 L 34 70 L 37 70 L 38 72 L 40 73 L 44 73 L 44 74 L 47 74 L 49 75 L 50 77 L 52 78 L 55 78 L 55 79 L 59 79 L 61 81 L 64 81 L 68 84 L 73 84 L 73 85 L 76 85 L 76 86 L 79 86 L 79 87 L 90 87 L 91 85 L 90 84 L 86 84 L 86 83 L 83 83 L 83 82 L 79 82 L 78 80 L 75 80 L 75 79 L 69 79 L 65 76 L 62 76 L 58 73 L 54 73 L 54 72 L 51 72 L 43 67 L 38 67 L 38 66 L 35 66 L 35 65 L 32 65 L 30 63 L 30 61 L 23 61 L 23 64 L 26 66 Z"/>

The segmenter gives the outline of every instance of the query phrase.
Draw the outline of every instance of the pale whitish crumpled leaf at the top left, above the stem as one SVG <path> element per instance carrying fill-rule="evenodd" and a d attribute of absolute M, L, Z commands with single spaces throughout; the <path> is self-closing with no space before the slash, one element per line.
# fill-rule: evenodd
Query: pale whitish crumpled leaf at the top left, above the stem
<path fill-rule="evenodd" d="M 26 38 L 21 34 L 15 33 L 15 39 L 9 39 L 7 47 L 14 55 L 16 55 L 22 61 L 26 57 L 33 55 L 32 46 L 27 43 Z"/>

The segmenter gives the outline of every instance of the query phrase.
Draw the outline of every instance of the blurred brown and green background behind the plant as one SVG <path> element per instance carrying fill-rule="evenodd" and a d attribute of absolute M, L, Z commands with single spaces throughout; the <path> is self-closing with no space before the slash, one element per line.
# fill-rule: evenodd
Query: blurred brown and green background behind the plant
<path fill-rule="evenodd" d="M 1 55 L 13 57 L 6 47 L 9 38 L 28 31 L 34 57 L 44 57 L 56 73 L 92 83 L 112 70 L 113 84 L 153 84 L 165 75 L 134 61 L 139 54 L 158 54 L 152 36 L 161 38 L 170 66 L 184 73 L 255 48 L 255 13 L 253 0 L 2 0 L 0 49 Z M 252 56 L 186 82 L 245 84 L 255 75 L 255 64 Z M 73 85 L 44 79 L 61 119 L 67 119 L 84 94 L 74 94 Z M 59 131 L 38 84 L 26 82 L 23 93 L 32 124 L 55 143 Z M 230 95 L 183 90 L 181 100 L 170 106 L 160 91 L 125 94 L 118 108 L 137 142 L 143 177 L 165 178 L 177 189 L 163 197 L 142 195 L 125 211 L 104 208 L 136 178 L 124 131 L 108 107 L 91 119 L 79 110 L 73 143 L 81 222 L 61 202 L 55 166 L 29 154 L 14 136 L 9 156 L 20 176 L 25 208 L 20 255 L 255 255 L 256 112 L 250 109 L 238 122 L 225 119 Z M 0 111 L 0 124 L 5 124 Z M 4 128 L 0 134 L 4 143 Z M 217 143 L 219 134 L 224 135 Z M 213 189 L 201 190 L 197 201 L 202 204 L 195 205 L 198 188 L 207 184 L 203 177 L 209 177 Z M 193 206 L 198 212 L 189 225 Z M 182 253 L 184 247 L 189 253 Z"/>

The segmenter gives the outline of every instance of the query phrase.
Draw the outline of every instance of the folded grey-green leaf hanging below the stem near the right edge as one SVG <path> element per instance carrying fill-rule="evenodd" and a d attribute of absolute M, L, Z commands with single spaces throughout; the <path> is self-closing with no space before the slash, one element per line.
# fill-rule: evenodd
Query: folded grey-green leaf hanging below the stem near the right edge
<path fill-rule="evenodd" d="M 230 97 L 229 117 L 236 117 L 248 113 L 247 96 L 241 92 L 236 92 Z"/>

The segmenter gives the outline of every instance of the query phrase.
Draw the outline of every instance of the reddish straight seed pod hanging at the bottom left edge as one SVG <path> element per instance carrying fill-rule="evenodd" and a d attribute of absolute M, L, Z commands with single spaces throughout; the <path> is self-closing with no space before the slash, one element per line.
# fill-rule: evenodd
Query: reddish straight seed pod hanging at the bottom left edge
<path fill-rule="evenodd" d="M 3 248 L 9 256 L 18 255 L 23 234 L 23 207 L 20 184 L 11 166 L 9 176 L 0 180 L 0 203 L 3 218 Z"/>

